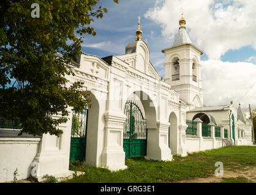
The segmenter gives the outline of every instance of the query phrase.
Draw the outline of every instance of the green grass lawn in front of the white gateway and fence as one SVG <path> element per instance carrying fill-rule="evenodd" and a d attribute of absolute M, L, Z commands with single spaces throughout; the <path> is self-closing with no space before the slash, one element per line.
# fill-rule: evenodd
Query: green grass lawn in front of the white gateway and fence
<path fill-rule="evenodd" d="M 236 171 L 245 166 L 256 165 L 256 147 L 222 147 L 211 151 L 196 152 L 187 157 L 174 156 L 173 161 L 145 160 L 143 157 L 126 158 L 128 169 L 111 172 L 104 168 L 86 166 L 85 163 L 73 164 L 70 170 L 85 172 L 82 176 L 63 182 L 176 182 L 196 177 L 213 176 L 216 161 L 224 164 L 224 170 Z M 232 179 L 227 180 L 232 181 Z"/>

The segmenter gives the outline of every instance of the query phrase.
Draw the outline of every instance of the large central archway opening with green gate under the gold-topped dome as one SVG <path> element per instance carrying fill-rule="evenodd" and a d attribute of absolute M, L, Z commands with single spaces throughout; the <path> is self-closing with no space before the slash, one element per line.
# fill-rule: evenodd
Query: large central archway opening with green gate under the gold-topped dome
<path fill-rule="evenodd" d="M 151 157 L 151 153 L 154 153 L 154 149 L 151 149 L 154 146 L 152 142 L 156 138 L 156 131 L 152 130 L 156 129 L 156 108 L 143 91 L 134 91 L 130 96 L 136 96 L 137 101 L 127 101 L 124 104 L 124 114 L 127 116 L 123 134 L 124 152 L 126 157 Z"/>

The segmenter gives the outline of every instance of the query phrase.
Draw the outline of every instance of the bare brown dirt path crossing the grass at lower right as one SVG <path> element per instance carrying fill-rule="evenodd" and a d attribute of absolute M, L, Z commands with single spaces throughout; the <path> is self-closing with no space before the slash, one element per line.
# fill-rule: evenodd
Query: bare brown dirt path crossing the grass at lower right
<path fill-rule="evenodd" d="M 247 166 L 236 171 L 225 171 L 223 176 L 216 177 L 215 174 L 211 177 L 181 180 L 178 183 L 219 183 L 224 177 L 246 177 L 250 182 L 256 183 L 256 167 Z"/>

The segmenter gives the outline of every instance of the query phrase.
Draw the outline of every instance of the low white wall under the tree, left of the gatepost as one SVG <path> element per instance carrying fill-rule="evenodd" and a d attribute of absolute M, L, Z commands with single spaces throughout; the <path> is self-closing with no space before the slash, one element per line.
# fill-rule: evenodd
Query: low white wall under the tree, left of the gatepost
<path fill-rule="evenodd" d="M 11 182 L 18 169 L 17 179 L 31 175 L 31 163 L 39 149 L 40 137 L 22 135 L 19 130 L 0 129 L 0 182 Z"/>

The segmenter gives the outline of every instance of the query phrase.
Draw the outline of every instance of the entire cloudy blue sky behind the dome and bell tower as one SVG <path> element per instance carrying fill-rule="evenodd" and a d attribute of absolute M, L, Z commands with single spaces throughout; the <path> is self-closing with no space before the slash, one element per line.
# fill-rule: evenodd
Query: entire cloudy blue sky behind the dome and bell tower
<path fill-rule="evenodd" d="M 105 57 L 122 55 L 133 42 L 141 18 L 151 62 L 164 77 L 164 54 L 178 32 L 183 7 L 192 43 L 201 55 L 205 105 L 231 100 L 247 112 L 256 107 L 256 1 L 255 0 L 112 0 L 102 1 L 108 13 L 92 24 L 96 37 L 86 35 L 83 52 Z"/>

